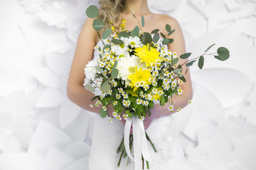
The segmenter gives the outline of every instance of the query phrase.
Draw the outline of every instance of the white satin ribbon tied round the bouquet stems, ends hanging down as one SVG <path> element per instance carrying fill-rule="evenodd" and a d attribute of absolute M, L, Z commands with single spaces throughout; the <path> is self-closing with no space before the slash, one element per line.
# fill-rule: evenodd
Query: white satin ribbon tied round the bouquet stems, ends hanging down
<path fill-rule="evenodd" d="M 132 153 L 129 149 L 129 132 L 132 125 L 134 157 L 132 157 Z M 134 170 L 142 169 L 142 155 L 146 161 L 151 162 L 144 123 L 143 120 L 139 119 L 137 116 L 135 118 L 127 118 L 124 126 L 124 147 L 128 157 L 134 161 Z"/>

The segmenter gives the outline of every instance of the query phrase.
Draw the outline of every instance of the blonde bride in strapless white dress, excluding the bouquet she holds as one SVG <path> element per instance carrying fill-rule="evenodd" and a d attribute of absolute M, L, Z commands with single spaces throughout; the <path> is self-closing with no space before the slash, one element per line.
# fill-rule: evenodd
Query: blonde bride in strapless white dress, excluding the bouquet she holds
<path fill-rule="evenodd" d="M 151 33 L 151 30 L 159 28 L 160 32 L 166 34 L 165 26 L 166 23 L 169 23 L 171 28 L 175 30 L 172 35 L 167 36 L 167 38 L 174 39 L 174 42 L 168 44 L 169 50 L 177 52 L 178 55 L 186 52 L 183 33 L 178 22 L 171 16 L 149 11 L 146 0 L 100 0 L 99 3 L 99 17 L 102 18 L 102 21 L 108 18 L 108 20 L 118 25 L 121 18 L 124 18 L 126 20 L 126 30 L 132 30 L 138 25 L 137 19 L 132 16 L 132 13 L 137 18 L 144 16 L 145 27 L 142 31 L 149 33 Z M 90 151 L 90 170 L 133 169 L 133 162 L 127 166 L 127 159 L 123 159 L 121 165 L 117 167 L 119 159 L 117 147 L 123 137 L 125 120 L 113 120 L 110 123 L 107 118 L 100 118 L 100 108 L 90 107 L 90 104 L 95 103 L 95 101 L 91 101 L 94 94 L 87 91 L 83 86 L 85 64 L 97 55 L 97 51 L 94 50 L 95 45 L 102 45 L 96 31 L 92 28 L 92 22 L 92 18 L 87 18 L 80 31 L 68 78 L 68 98 L 81 108 L 97 113 Z M 186 62 L 186 60 L 179 60 L 178 64 L 183 62 Z M 183 70 L 186 69 L 188 67 L 184 66 Z M 183 89 L 183 96 L 188 99 L 183 96 L 174 96 L 173 101 L 177 108 L 185 107 L 188 104 L 188 100 L 191 100 L 193 96 L 189 69 L 184 77 L 186 78 L 186 83 L 183 83 L 181 88 Z M 149 145 L 151 154 L 150 169 L 191 170 L 185 163 L 183 149 L 175 131 L 174 120 L 167 107 L 168 103 L 164 107 L 160 106 L 159 103 L 155 103 L 154 108 L 151 109 L 151 116 L 146 116 L 144 119 L 144 128 L 157 150 L 157 152 L 154 152 L 151 145 Z M 174 109 L 174 113 L 178 112 L 176 109 Z M 107 108 L 107 111 L 107 114 L 112 116 L 113 108 L 111 106 Z"/>

